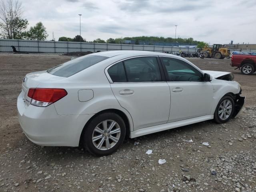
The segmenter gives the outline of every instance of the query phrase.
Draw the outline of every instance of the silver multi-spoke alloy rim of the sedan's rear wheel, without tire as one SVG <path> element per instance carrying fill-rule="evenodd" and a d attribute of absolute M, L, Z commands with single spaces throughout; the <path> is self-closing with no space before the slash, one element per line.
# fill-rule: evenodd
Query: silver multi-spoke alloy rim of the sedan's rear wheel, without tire
<path fill-rule="evenodd" d="M 114 120 L 100 122 L 92 132 L 92 143 L 99 150 L 109 150 L 114 147 L 121 136 L 121 129 Z"/>

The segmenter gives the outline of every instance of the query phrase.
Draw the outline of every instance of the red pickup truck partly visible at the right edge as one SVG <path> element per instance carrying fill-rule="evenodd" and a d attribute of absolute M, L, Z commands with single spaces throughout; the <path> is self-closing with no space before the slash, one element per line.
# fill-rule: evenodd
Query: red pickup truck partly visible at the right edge
<path fill-rule="evenodd" d="M 244 75 L 251 75 L 256 71 L 256 55 L 232 55 L 231 63 L 232 67 L 241 70 Z"/>

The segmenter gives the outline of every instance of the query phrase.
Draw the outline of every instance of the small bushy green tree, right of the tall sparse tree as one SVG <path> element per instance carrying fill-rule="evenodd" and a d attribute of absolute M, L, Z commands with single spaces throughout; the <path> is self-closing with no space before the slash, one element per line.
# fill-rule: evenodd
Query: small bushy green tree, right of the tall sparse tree
<path fill-rule="evenodd" d="M 48 37 L 46 27 L 42 22 L 38 22 L 34 27 L 30 27 L 29 31 L 26 32 L 26 38 L 30 40 L 45 40 Z"/>

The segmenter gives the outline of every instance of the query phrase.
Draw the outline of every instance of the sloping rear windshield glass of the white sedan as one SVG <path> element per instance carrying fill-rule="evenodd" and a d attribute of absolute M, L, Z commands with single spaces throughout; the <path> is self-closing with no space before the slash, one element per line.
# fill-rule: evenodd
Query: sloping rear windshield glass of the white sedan
<path fill-rule="evenodd" d="M 47 70 L 47 72 L 56 76 L 69 77 L 107 58 L 98 55 L 86 55 L 60 64 Z"/>

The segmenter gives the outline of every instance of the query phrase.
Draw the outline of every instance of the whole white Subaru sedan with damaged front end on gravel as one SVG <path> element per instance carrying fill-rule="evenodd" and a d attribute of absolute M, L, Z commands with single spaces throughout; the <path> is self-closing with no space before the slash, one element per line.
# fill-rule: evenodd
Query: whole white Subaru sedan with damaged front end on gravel
<path fill-rule="evenodd" d="M 82 145 L 108 155 L 125 137 L 210 119 L 227 122 L 245 102 L 233 78 L 172 54 L 99 52 L 27 74 L 18 118 L 38 145 Z"/>

